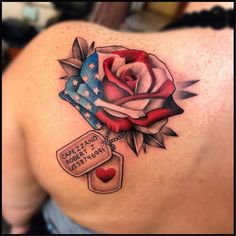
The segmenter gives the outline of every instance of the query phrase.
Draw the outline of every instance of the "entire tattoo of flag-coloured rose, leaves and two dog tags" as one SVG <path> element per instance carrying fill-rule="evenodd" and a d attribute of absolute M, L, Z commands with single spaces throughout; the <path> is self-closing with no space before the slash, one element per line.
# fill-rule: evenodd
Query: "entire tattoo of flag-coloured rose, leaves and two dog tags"
<path fill-rule="evenodd" d="M 168 119 L 183 113 L 173 99 L 195 96 L 175 91 L 174 79 L 155 55 L 122 46 L 88 46 L 76 38 L 73 56 L 59 60 L 67 76 L 59 96 L 69 102 L 93 130 L 57 151 L 61 167 L 75 177 L 87 175 L 88 188 L 113 193 L 122 187 L 125 157 L 116 151 L 122 139 L 138 156 L 146 145 L 165 148 L 164 135 L 177 136 Z M 187 88 L 198 80 L 184 81 Z M 102 135 L 101 130 L 105 129 Z M 115 137 L 109 139 L 111 134 Z"/>

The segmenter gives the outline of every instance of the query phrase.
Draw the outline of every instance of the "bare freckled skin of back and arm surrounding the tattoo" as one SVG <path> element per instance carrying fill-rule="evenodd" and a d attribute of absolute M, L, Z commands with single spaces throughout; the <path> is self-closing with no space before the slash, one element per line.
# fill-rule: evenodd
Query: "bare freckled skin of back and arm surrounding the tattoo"
<path fill-rule="evenodd" d="M 192 9 L 191 9 L 192 10 Z M 179 137 L 167 150 L 148 148 L 138 159 L 122 141 L 124 183 L 107 195 L 61 169 L 56 150 L 91 130 L 58 97 L 66 58 L 76 36 L 99 46 L 122 45 L 166 62 L 176 83 L 200 79 L 199 95 L 180 100 L 170 120 Z M 104 233 L 233 232 L 233 31 L 184 29 L 124 33 L 68 22 L 41 33 L 3 78 L 3 215 L 27 225 L 49 194 L 75 222 Z M 11 172 L 11 174 L 9 174 Z"/>

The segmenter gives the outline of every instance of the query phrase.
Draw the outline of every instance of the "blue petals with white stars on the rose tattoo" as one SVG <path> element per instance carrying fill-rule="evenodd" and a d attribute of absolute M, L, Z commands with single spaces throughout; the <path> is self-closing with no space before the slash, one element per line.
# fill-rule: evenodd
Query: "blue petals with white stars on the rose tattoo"
<path fill-rule="evenodd" d="M 102 98 L 101 88 L 98 54 L 94 53 L 83 63 L 80 76 L 70 77 L 59 96 L 74 106 L 94 129 L 101 129 L 103 123 L 95 115 L 101 108 L 94 105 L 97 99 Z"/>

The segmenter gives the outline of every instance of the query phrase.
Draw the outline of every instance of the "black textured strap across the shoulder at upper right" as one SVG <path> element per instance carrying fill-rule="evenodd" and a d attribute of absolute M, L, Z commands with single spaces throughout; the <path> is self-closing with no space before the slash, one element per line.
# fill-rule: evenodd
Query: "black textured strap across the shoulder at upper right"
<path fill-rule="evenodd" d="M 215 6 L 211 10 L 202 10 L 200 12 L 185 13 L 177 21 L 170 23 L 162 29 L 170 30 L 183 27 L 211 27 L 219 30 L 225 27 L 234 28 L 235 16 L 234 10 L 225 10 L 220 6 Z"/>

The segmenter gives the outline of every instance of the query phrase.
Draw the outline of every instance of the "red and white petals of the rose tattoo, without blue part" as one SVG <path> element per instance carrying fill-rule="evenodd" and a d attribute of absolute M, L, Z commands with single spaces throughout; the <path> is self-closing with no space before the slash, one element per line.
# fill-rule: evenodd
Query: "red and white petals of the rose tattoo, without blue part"
<path fill-rule="evenodd" d="M 115 132 L 157 133 L 167 118 L 183 112 L 172 98 L 175 85 L 156 56 L 123 47 L 96 48 L 103 100 L 96 117 Z"/>

